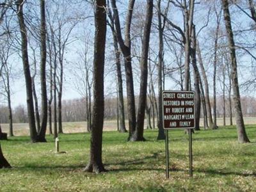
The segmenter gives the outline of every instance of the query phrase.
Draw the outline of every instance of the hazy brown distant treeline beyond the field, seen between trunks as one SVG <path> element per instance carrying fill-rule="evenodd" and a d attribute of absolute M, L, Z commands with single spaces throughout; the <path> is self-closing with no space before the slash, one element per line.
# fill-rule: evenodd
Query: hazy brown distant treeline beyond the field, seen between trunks
<path fill-rule="evenodd" d="M 158 98 L 157 98 L 158 99 Z M 138 98 L 135 98 L 136 103 L 138 103 Z M 147 102 L 150 103 L 150 99 L 147 99 Z M 210 97 L 211 106 L 213 105 L 213 98 Z M 125 106 L 127 105 L 126 100 L 124 99 L 124 117 L 127 119 L 127 111 Z M 256 99 L 255 97 L 241 97 L 241 105 L 243 116 L 252 117 L 256 116 Z M 138 106 L 136 105 L 136 109 Z M 154 105 L 152 104 L 152 108 Z M 53 108 L 52 108 L 53 110 Z M 0 106 L 0 120 L 2 124 L 10 123 L 9 108 L 8 106 Z M 153 125 L 154 118 L 156 119 L 156 110 L 154 114 L 152 109 L 146 109 L 146 118 L 150 120 L 150 123 L 147 120 L 148 127 L 150 124 Z M 231 101 L 231 106 L 229 98 L 223 98 L 223 95 L 216 97 L 216 117 L 217 118 L 232 118 L 234 117 L 234 105 Z M 62 101 L 62 120 L 63 122 L 81 122 L 86 121 L 89 114 L 86 110 L 86 99 L 70 99 Z M 104 119 L 106 120 L 118 120 L 119 109 L 118 109 L 118 98 L 117 97 L 108 97 L 104 98 Z M 52 115 L 53 118 L 53 115 Z M 201 106 L 200 118 L 204 118 L 204 109 Z M 28 111 L 26 106 L 19 105 L 12 109 L 12 119 L 13 123 L 28 123 Z M 232 121 L 231 121 L 232 123 Z M 224 124 L 225 125 L 225 124 Z M 156 124 L 152 127 L 157 127 Z M 206 129 L 207 127 L 205 127 Z M 9 130 L 9 136 L 12 129 Z"/>

